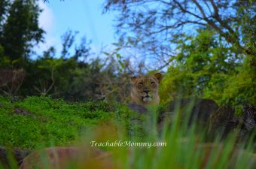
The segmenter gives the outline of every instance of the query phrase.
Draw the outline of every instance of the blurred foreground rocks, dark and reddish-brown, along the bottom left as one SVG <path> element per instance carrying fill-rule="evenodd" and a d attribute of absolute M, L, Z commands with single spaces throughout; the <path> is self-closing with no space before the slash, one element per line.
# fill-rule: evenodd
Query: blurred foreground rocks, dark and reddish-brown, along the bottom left
<path fill-rule="evenodd" d="M 75 162 L 75 168 L 113 168 L 111 153 L 93 147 L 50 147 L 38 151 L 25 149 L 6 149 L 0 147 L 0 167 L 20 169 L 67 168 Z"/>

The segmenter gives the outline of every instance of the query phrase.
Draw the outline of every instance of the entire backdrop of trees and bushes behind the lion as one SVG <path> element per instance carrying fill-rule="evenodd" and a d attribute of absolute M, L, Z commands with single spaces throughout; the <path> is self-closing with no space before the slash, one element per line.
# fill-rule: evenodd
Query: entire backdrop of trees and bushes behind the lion
<path fill-rule="evenodd" d="M 85 37 L 76 44 L 78 32 L 68 30 L 62 35 L 61 53 L 56 53 L 56 49 L 50 47 L 36 59 L 29 59 L 29 45 L 32 41 L 36 44 L 42 40 L 43 32 L 37 29 L 38 14 L 41 11 L 34 1 L 3 1 L 5 6 L 1 13 L 3 41 L 0 43 L 0 72 L 5 72 L 5 69 L 13 73 L 23 70 L 26 77 L 20 80 L 18 90 L 0 86 L 0 94 L 21 98 L 44 95 L 68 101 L 105 99 L 127 103 L 130 100 L 131 76 L 166 68 L 168 71 L 163 72 L 164 79 L 160 84 L 162 102 L 197 96 L 234 107 L 247 102 L 255 104 L 254 2 L 198 2 L 201 1 L 106 1 L 106 10 L 123 10 L 120 11 L 120 17 L 117 17 L 117 30 L 131 32 L 120 35 L 120 41 L 114 43 L 114 50 L 104 51 L 105 58 L 102 58 L 103 55 L 99 57 L 91 53 L 90 41 Z M 137 11 L 133 5 L 138 5 L 138 9 L 143 10 Z M 200 13 L 191 17 L 194 13 L 190 13 L 187 5 Z M 200 10 L 200 5 L 203 5 L 203 11 Z M 166 10 L 169 8 L 175 10 Z M 23 11 L 23 15 L 13 14 L 14 9 Z M 222 13 L 224 10 L 233 12 L 229 16 Z M 203 17 L 203 12 L 206 18 Z M 24 20 L 30 18 L 33 22 L 29 24 L 32 25 L 15 22 L 15 29 L 11 29 L 10 22 L 21 20 L 20 17 L 24 17 Z M 132 20 L 132 17 L 137 19 Z M 203 18 L 194 23 L 196 17 Z M 170 24 L 170 27 L 167 23 L 165 27 L 163 21 Z M 124 29 L 123 26 L 128 27 Z M 196 29 L 188 32 L 187 29 L 192 26 Z M 184 29 L 178 31 L 181 28 Z M 24 41 L 11 40 L 22 34 L 29 38 L 23 38 Z M 8 43 L 4 43 L 8 39 L 11 49 L 17 49 L 11 52 L 20 54 L 9 53 L 9 46 L 6 46 Z M 23 49 L 19 50 L 20 47 Z M 123 47 L 128 47 L 128 50 L 123 51 Z M 141 59 L 140 49 L 144 51 Z M 127 53 L 129 56 L 131 53 L 130 58 L 126 58 Z M 146 60 L 150 53 L 154 54 L 153 58 Z M 158 62 L 155 62 L 156 58 L 159 59 Z M 3 78 L 4 76 L 0 79 L 13 86 L 10 78 Z"/>

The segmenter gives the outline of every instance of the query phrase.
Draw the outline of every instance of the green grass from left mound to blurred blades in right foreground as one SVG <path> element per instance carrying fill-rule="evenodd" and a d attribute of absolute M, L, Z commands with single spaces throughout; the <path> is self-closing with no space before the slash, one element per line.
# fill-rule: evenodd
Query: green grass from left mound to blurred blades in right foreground
<path fill-rule="evenodd" d="M 256 166 L 252 140 L 237 146 L 236 135 L 230 134 L 226 140 L 217 138 L 214 143 L 206 143 L 204 128 L 198 131 L 195 125 L 187 127 L 185 122 L 180 122 L 178 112 L 171 124 L 166 122 L 160 132 L 154 107 L 148 116 L 137 116 L 120 104 L 105 101 L 68 104 L 51 98 L 29 97 L 14 103 L 8 98 L 0 98 L 0 104 L 0 144 L 5 146 L 38 149 L 44 143 L 46 147 L 73 144 L 87 147 L 92 140 L 166 142 L 163 147 L 98 148 L 111 152 L 114 168 L 122 169 L 254 169 Z M 31 115 L 14 114 L 16 107 L 28 110 Z M 66 168 L 99 168 L 101 162 L 87 164 L 83 161 L 87 167 L 81 167 L 78 161 L 73 161 Z M 11 164 L 11 168 L 17 168 L 14 162 Z M 44 168 L 50 167 L 46 163 Z"/>

